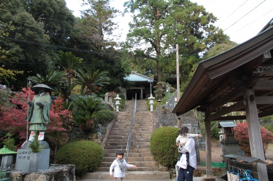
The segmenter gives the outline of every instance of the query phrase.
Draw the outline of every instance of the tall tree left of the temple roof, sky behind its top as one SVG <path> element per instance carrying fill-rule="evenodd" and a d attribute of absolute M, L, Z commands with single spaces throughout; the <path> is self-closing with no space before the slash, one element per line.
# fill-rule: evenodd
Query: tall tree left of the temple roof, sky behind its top
<path fill-rule="evenodd" d="M 83 67 L 92 70 L 107 71 L 110 84 L 103 87 L 101 93 L 125 86 L 124 77 L 131 73 L 130 66 L 121 61 L 122 53 L 117 43 L 108 41 L 108 37 L 117 28 L 113 19 L 118 10 L 110 7 L 110 0 L 85 0 L 88 9 L 82 11 L 73 28 L 71 44 L 86 51 L 73 52 L 84 59 Z"/>

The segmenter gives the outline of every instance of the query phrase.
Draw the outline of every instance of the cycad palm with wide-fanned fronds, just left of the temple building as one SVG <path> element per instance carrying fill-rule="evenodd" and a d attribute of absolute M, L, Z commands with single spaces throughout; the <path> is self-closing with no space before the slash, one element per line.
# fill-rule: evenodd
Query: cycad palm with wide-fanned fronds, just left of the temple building
<path fill-rule="evenodd" d="M 106 71 L 99 72 L 99 70 L 92 71 L 90 68 L 85 68 L 85 71 L 79 69 L 74 83 L 81 85 L 82 89 L 86 88 L 86 94 L 91 95 L 96 87 L 109 84 L 110 78 L 107 77 L 107 73 Z"/>

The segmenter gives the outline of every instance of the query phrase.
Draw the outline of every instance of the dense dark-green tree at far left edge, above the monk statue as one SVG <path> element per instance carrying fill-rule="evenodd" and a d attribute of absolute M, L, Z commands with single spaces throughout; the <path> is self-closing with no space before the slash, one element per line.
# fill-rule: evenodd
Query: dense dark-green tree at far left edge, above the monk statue
<path fill-rule="evenodd" d="M 10 60 L 1 63 L 5 69 L 24 71 L 23 75 L 15 76 L 16 81 L 7 80 L 18 90 L 26 86 L 28 76 L 47 74 L 53 48 L 46 46 L 50 37 L 45 34 L 44 24 L 26 11 L 21 0 L 0 1 L 0 22 L 0 29 L 8 32 L 0 38 L 0 45 L 9 52 Z"/>

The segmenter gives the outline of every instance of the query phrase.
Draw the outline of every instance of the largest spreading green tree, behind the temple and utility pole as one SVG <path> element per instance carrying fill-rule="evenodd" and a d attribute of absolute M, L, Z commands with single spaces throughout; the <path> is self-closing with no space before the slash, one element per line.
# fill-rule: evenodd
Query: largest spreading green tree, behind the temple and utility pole
<path fill-rule="evenodd" d="M 184 72 L 188 74 L 199 62 L 200 52 L 227 38 L 212 25 L 216 17 L 189 0 L 129 0 L 124 5 L 134 13 L 128 43 L 143 47 L 146 57 L 154 60 L 158 81 L 163 73 L 175 73 L 176 44 L 179 54 L 187 54 Z"/>

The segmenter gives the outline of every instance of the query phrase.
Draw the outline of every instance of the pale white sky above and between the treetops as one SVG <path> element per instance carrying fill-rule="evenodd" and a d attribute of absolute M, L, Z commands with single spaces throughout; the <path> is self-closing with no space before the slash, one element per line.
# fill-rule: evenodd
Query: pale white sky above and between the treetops
<path fill-rule="evenodd" d="M 123 3 L 127 0 L 111 0 L 110 6 L 123 11 Z M 241 44 L 255 37 L 273 18 L 273 0 L 191 0 L 203 5 L 207 12 L 218 18 L 215 26 L 224 30 L 231 41 Z M 66 0 L 68 9 L 74 16 L 80 17 L 82 0 Z M 118 38 L 114 41 L 125 41 L 129 31 L 128 23 L 131 15 L 119 15 L 115 22 L 119 29 L 114 32 Z"/>

